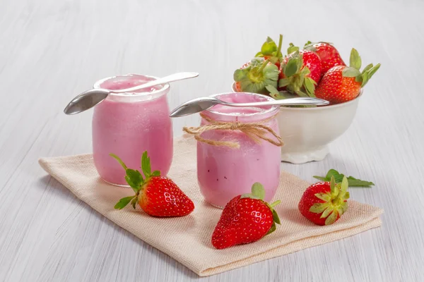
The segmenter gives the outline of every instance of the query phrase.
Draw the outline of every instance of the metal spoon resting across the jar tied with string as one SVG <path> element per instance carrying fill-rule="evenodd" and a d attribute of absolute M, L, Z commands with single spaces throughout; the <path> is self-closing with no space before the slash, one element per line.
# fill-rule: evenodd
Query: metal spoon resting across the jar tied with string
<path fill-rule="evenodd" d="M 230 103 L 224 102 L 223 100 L 217 99 L 215 97 L 201 97 L 192 99 L 189 102 L 185 102 L 178 106 L 170 114 L 171 118 L 177 118 L 179 116 L 188 116 L 190 114 L 199 113 L 199 111 L 204 111 L 211 109 L 216 104 L 221 104 L 225 106 L 236 106 L 236 107 L 248 107 L 248 106 L 301 106 L 301 105 L 315 105 L 315 106 L 324 106 L 328 105 L 329 102 L 324 99 L 312 98 L 312 97 L 295 97 L 290 99 L 281 99 L 274 101 L 265 101 L 265 102 L 254 102 L 254 103 Z"/>

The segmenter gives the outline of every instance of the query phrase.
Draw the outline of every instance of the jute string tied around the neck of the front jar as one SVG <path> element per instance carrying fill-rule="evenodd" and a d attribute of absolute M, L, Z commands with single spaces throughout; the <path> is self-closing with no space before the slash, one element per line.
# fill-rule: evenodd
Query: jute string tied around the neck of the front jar
<path fill-rule="evenodd" d="M 272 145 L 281 147 L 284 145 L 283 140 L 280 136 L 269 126 L 264 125 L 264 123 L 271 121 L 275 116 L 271 118 L 266 118 L 264 121 L 258 123 L 240 123 L 239 121 L 235 122 L 225 122 L 225 121 L 214 121 L 205 114 L 200 114 L 205 121 L 209 124 L 201 125 L 199 127 L 184 127 L 182 128 L 184 132 L 194 135 L 194 138 L 199 142 L 204 142 L 208 145 L 213 146 L 227 146 L 230 148 L 238 149 L 240 148 L 239 142 L 235 141 L 219 141 L 219 140 L 208 140 L 201 137 L 201 134 L 208 130 L 240 130 L 242 133 L 245 133 L 250 139 L 259 144 L 261 140 L 270 142 Z M 273 137 L 276 137 L 276 140 L 272 140 L 269 137 L 266 137 L 267 133 L 271 133 Z"/>

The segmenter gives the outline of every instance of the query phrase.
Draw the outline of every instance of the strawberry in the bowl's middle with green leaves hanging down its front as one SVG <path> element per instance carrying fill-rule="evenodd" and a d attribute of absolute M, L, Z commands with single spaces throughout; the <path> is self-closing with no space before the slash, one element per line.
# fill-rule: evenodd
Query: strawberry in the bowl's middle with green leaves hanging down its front
<path fill-rule="evenodd" d="M 278 87 L 299 96 L 314 96 L 315 85 L 321 75 L 321 61 L 313 51 L 299 50 L 290 43 L 290 53 L 281 63 Z"/>

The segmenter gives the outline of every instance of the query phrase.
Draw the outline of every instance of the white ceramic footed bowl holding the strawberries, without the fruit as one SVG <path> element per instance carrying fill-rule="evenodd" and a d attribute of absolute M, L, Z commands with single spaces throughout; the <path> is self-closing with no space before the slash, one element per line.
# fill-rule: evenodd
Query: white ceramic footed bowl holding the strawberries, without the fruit
<path fill-rule="evenodd" d="M 235 91 L 232 85 L 232 91 Z M 351 126 L 360 95 L 352 101 L 331 106 L 293 108 L 282 106 L 278 114 L 284 145 L 281 160 L 292 164 L 321 161 L 329 154 L 329 143 Z"/>

